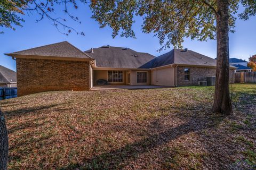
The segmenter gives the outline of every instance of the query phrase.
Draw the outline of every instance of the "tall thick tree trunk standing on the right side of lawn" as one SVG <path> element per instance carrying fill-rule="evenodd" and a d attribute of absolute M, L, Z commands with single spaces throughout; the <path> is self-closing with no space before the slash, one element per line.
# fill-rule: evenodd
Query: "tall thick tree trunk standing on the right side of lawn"
<path fill-rule="evenodd" d="M 229 0 L 217 0 L 217 67 L 213 112 L 231 114 L 229 96 Z"/>

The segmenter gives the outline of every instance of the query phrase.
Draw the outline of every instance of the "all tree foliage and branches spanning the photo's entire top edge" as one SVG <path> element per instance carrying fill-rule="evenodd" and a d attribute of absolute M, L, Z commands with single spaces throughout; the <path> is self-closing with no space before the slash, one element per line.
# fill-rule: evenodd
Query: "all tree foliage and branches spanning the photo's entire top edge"
<path fill-rule="evenodd" d="M 65 24 L 67 19 L 62 17 L 54 18 L 56 5 L 63 6 L 63 12 L 72 19 L 81 23 L 77 16 L 71 15 L 69 7 L 78 8 L 77 2 L 89 3 L 86 0 L 2 0 L 0 1 L 0 26 L 15 29 L 15 25 L 21 26 L 24 20 L 20 14 L 25 11 L 36 11 L 41 21 L 43 18 L 50 19 L 53 25 L 62 26 L 68 31 L 77 32 L 70 25 Z M 240 19 L 247 20 L 256 14 L 255 0 L 230 0 L 229 1 L 229 26 L 234 32 L 235 14 L 239 6 L 244 7 L 244 12 L 238 14 Z M 216 0 L 91 0 L 92 18 L 97 20 L 100 27 L 108 25 L 113 29 L 113 37 L 118 33 L 124 37 L 135 37 L 132 25 L 135 22 L 134 16 L 143 18 L 142 31 L 154 32 L 162 45 L 161 49 L 169 48 L 171 45 L 181 47 L 183 38 L 190 37 L 205 41 L 216 38 Z M 60 31 L 60 30 L 59 30 Z M 61 32 L 63 33 L 63 32 Z"/>

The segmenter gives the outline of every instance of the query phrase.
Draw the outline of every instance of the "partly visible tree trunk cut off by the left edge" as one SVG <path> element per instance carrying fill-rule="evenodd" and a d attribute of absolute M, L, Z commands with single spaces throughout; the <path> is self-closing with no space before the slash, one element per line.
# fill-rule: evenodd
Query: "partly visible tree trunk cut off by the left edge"
<path fill-rule="evenodd" d="M 7 169 L 8 160 L 8 135 L 4 115 L 0 109 L 0 169 Z"/>

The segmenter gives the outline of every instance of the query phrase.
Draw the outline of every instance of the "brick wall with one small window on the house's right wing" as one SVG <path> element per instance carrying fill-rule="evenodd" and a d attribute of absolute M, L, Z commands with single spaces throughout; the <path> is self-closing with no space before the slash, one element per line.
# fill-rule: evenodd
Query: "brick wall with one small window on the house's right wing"
<path fill-rule="evenodd" d="M 184 69 L 190 69 L 190 80 L 184 80 L 185 73 Z M 192 86 L 197 85 L 198 80 L 203 80 L 205 77 L 215 77 L 215 68 L 208 67 L 177 67 L 177 86 Z M 233 83 L 234 79 L 234 70 L 229 71 L 229 83 Z"/>

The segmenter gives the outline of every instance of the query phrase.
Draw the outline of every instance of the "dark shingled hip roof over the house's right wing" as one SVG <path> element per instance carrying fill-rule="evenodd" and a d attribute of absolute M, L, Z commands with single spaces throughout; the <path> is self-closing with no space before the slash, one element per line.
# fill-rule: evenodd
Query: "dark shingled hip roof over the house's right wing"
<path fill-rule="evenodd" d="M 216 66 L 216 60 L 192 50 L 173 49 L 168 53 L 154 58 L 140 68 L 155 68 L 170 64 Z"/>

